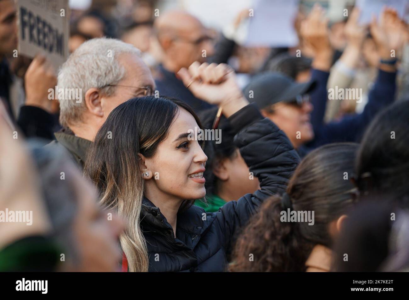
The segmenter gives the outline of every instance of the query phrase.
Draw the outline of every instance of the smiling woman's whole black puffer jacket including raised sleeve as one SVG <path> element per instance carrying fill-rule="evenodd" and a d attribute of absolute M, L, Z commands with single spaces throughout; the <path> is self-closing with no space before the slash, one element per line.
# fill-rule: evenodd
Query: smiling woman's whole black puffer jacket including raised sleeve
<path fill-rule="evenodd" d="M 178 213 L 177 238 L 159 208 L 144 198 L 141 227 L 149 271 L 226 271 L 227 255 L 240 229 L 266 198 L 285 191 L 299 163 L 287 136 L 263 118 L 254 104 L 240 109 L 229 122 L 237 132 L 234 142 L 261 189 L 227 202 L 216 213 L 197 206 Z"/>

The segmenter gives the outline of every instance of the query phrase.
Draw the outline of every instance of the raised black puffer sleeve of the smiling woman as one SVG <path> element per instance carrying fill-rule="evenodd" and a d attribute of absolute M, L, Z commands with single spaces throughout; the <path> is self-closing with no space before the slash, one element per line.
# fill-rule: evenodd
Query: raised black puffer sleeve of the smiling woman
<path fill-rule="evenodd" d="M 215 213 L 216 226 L 227 253 L 240 229 L 258 211 L 263 201 L 285 191 L 300 160 L 285 133 L 272 121 L 263 118 L 254 104 L 236 112 L 229 121 L 238 132 L 234 142 L 250 172 L 258 177 L 261 189 L 238 201 L 227 202 Z"/>

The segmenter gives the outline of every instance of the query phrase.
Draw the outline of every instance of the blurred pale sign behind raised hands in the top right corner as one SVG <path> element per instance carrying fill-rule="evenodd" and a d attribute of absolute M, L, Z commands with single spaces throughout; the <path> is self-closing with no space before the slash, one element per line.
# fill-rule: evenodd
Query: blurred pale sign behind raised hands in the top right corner
<path fill-rule="evenodd" d="M 357 0 L 356 6 L 360 8 L 360 24 L 368 24 L 374 14 L 379 20 L 383 7 L 388 6 L 396 9 L 400 18 L 404 19 L 408 0 Z"/>

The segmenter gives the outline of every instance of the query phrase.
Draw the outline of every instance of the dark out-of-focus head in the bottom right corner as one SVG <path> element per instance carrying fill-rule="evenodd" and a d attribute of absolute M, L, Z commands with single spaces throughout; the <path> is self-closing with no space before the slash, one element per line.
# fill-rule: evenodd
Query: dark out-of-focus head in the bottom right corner
<path fill-rule="evenodd" d="M 387 198 L 365 199 L 348 214 L 335 244 L 333 271 L 409 270 L 409 214 Z"/>

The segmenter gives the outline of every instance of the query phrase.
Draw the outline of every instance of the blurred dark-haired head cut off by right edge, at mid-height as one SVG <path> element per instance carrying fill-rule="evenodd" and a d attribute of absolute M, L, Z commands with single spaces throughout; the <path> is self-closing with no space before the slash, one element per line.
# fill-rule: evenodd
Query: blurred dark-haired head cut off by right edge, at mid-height
<path fill-rule="evenodd" d="M 387 194 L 409 208 L 409 101 L 391 105 L 366 129 L 356 177 L 361 196 Z"/>

